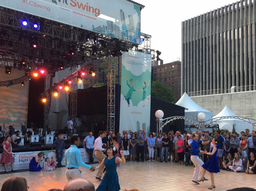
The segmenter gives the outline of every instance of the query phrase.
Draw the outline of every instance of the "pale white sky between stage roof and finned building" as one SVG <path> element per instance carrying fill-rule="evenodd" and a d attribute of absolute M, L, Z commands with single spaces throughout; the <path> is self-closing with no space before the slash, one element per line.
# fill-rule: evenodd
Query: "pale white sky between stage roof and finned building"
<path fill-rule="evenodd" d="M 235 0 L 134 0 L 145 5 L 140 14 L 141 32 L 151 35 L 151 49 L 162 52 L 164 64 L 181 61 L 181 22 L 232 4 Z"/>

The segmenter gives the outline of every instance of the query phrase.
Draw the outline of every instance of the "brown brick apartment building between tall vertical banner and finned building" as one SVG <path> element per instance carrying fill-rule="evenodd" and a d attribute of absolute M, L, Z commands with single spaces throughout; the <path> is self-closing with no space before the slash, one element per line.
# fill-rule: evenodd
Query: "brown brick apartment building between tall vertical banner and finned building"
<path fill-rule="evenodd" d="M 172 92 L 175 93 L 176 103 L 180 99 L 181 92 L 181 62 L 174 61 L 171 63 L 163 64 L 163 60 L 158 65 L 157 61 L 152 61 L 151 80 L 163 82 L 168 88 L 172 88 Z"/>

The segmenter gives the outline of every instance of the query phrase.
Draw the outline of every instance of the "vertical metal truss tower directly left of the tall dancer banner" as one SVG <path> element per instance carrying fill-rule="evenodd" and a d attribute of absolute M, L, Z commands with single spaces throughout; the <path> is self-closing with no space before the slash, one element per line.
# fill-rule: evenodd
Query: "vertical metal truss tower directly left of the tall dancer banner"
<path fill-rule="evenodd" d="M 115 132 L 116 57 L 108 57 L 108 130 Z"/>

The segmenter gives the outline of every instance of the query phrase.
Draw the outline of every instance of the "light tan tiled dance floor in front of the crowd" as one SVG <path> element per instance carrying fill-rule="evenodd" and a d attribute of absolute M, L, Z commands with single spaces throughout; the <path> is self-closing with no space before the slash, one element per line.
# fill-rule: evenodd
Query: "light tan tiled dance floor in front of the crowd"
<path fill-rule="evenodd" d="M 97 166 L 98 164 L 93 164 Z M 58 168 L 50 172 L 18 172 L 0 175 L 0 187 L 3 182 L 11 176 L 22 176 L 28 181 L 29 191 L 47 191 L 51 188 L 63 189 L 67 183 L 65 175 L 66 168 Z M 100 184 L 95 179 L 95 172 L 80 168 L 84 176 L 92 181 L 97 188 Z M 137 188 L 140 191 L 180 191 L 180 190 L 208 190 L 211 186 L 209 173 L 205 177 L 209 181 L 204 181 L 200 185 L 191 182 L 194 168 L 192 166 L 180 165 L 174 162 L 159 163 L 155 162 L 127 162 L 117 168 L 121 190 L 125 188 Z M 226 191 L 231 188 L 247 187 L 255 188 L 256 175 L 245 174 L 244 172 L 221 171 L 214 175 L 215 185 L 218 191 Z"/>

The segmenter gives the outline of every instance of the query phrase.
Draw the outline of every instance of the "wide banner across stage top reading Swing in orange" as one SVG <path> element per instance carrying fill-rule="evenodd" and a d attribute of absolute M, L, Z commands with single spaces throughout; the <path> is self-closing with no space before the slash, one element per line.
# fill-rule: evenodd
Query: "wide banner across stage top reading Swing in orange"
<path fill-rule="evenodd" d="M 140 6 L 126 0 L 1 0 L 0 6 L 140 44 Z"/>

